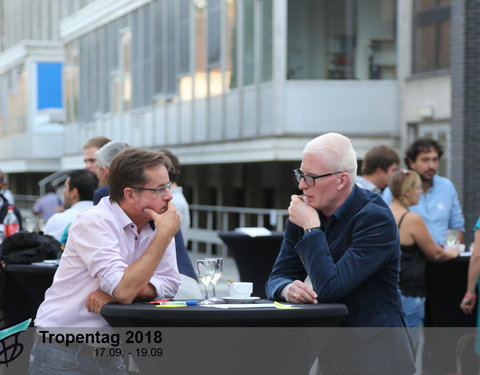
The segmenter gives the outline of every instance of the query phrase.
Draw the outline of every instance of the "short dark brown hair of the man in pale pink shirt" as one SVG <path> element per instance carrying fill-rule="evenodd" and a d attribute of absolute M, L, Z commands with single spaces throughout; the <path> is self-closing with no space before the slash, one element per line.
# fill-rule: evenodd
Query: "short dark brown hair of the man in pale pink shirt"
<path fill-rule="evenodd" d="M 110 201 L 121 202 L 126 187 L 144 186 L 148 183 L 145 169 L 163 165 L 167 171 L 171 168 L 170 160 L 159 152 L 151 152 L 135 147 L 127 147 L 112 160 L 108 187 Z"/>

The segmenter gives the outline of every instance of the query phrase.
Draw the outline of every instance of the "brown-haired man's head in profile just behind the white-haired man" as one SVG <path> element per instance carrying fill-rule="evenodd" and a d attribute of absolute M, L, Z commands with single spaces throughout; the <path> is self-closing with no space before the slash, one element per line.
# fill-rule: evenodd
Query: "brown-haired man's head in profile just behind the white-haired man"
<path fill-rule="evenodd" d="M 357 176 L 356 184 L 381 194 L 399 165 L 400 159 L 393 148 L 385 145 L 372 147 L 363 158 L 362 176 Z"/>

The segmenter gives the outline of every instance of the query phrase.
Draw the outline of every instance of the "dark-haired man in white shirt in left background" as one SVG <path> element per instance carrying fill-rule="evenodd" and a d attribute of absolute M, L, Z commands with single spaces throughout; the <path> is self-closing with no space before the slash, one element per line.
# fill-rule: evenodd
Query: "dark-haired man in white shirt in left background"
<path fill-rule="evenodd" d="M 97 189 L 98 178 L 86 169 L 77 169 L 68 174 L 65 180 L 63 197 L 64 212 L 57 212 L 48 219 L 44 233 L 62 239 L 65 229 L 73 223 L 80 211 L 93 207 L 93 193 Z"/>

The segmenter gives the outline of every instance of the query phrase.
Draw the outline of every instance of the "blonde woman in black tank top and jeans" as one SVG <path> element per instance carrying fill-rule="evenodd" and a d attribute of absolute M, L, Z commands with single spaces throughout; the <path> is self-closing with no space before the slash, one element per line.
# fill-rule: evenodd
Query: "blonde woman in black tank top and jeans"
<path fill-rule="evenodd" d="M 422 192 L 420 176 L 415 171 L 401 169 L 390 180 L 392 203 L 390 209 L 400 233 L 402 259 L 400 263 L 400 291 L 409 327 L 421 327 L 425 316 L 425 265 L 427 258 L 444 261 L 457 257 L 459 248 L 443 249 L 435 243 L 422 217 L 409 208 L 418 203 Z M 415 346 L 419 330 L 410 330 Z"/>

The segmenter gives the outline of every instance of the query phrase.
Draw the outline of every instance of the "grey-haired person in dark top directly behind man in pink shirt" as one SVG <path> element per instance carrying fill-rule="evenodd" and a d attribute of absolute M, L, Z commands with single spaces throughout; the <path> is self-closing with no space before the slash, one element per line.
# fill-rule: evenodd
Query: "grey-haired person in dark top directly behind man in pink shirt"
<path fill-rule="evenodd" d="M 100 187 L 95 191 L 93 204 L 96 205 L 100 199 L 108 196 L 108 175 L 110 174 L 110 164 L 113 158 L 123 149 L 129 147 L 128 143 L 123 141 L 110 141 L 102 146 L 96 152 L 97 158 L 97 177 Z"/>

